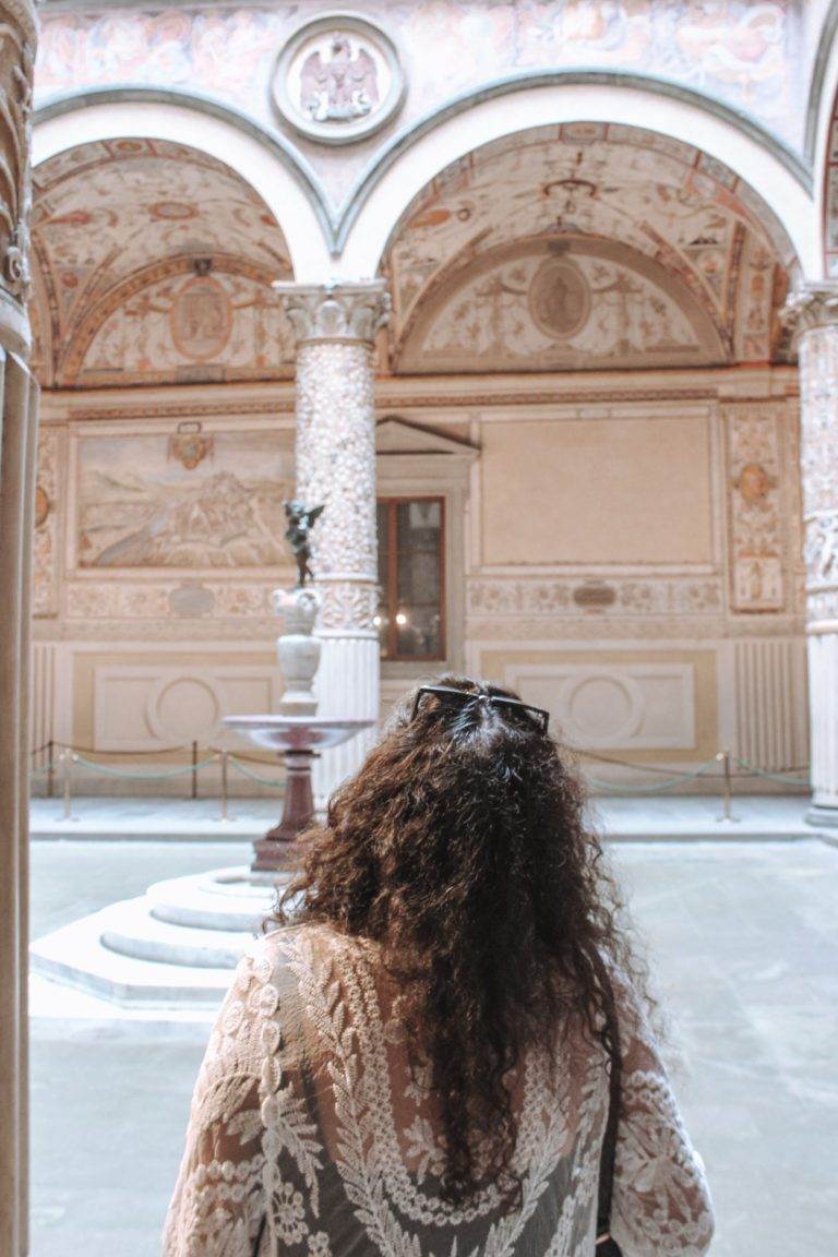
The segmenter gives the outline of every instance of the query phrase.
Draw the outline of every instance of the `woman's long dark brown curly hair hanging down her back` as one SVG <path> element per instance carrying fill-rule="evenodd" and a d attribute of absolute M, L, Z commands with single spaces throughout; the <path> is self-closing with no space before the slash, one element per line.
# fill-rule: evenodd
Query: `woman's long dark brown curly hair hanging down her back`
<path fill-rule="evenodd" d="M 607 963 L 634 965 L 567 752 L 526 710 L 487 701 L 511 690 L 437 684 L 469 698 L 427 694 L 415 715 L 408 698 L 303 836 L 273 923 L 381 944 L 410 1060 L 431 1067 L 442 1194 L 461 1203 L 495 1183 L 511 1205 L 511 1071 L 574 1019 L 602 1038 Z"/>

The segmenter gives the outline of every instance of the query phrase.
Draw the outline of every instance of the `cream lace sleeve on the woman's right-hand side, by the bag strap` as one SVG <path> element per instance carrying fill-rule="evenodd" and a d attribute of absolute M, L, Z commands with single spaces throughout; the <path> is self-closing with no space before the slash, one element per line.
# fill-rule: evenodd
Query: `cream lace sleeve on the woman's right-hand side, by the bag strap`
<path fill-rule="evenodd" d="M 612 1233 L 623 1257 L 702 1257 L 714 1231 L 704 1165 L 651 1027 L 633 997 L 621 1003 L 623 1076 Z"/>

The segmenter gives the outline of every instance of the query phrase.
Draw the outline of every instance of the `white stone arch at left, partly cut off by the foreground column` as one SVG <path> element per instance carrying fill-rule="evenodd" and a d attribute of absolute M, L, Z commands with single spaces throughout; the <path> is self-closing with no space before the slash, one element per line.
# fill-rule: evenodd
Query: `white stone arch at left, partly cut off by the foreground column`
<path fill-rule="evenodd" d="M 35 114 L 33 166 L 97 141 L 183 143 L 229 166 L 279 222 L 300 282 L 329 278 L 330 230 L 319 184 L 294 147 L 216 102 L 144 88 L 79 92 Z"/>

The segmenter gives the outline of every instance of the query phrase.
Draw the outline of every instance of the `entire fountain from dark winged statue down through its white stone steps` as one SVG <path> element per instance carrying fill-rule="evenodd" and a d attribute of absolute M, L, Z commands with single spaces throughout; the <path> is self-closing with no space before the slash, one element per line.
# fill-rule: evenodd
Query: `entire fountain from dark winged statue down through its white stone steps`
<path fill-rule="evenodd" d="M 284 757 L 283 816 L 259 838 L 248 867 L 216 869 L 150 886 L 74 921 L 31 948 L 35 973 L 128 1007 L 215 1008 L 230 985 L 231 969 L 270 913 L 284 870 L 297 854 L 297 836 L 313 815 L 312 760 L 320 750 L 348 742 L 372 720 L 318 716 L 314 678 L 320 642 L 314 636 L 319 610 L 310 585 L 309 534 L 320 508 L 285 504 L 286 538 L 299 579 L 276 590 L 274 607 L 284 620 L 276 641 L 285 691 L 279 711 L 232 715 L 225 725 L 258 747 Z"/>

